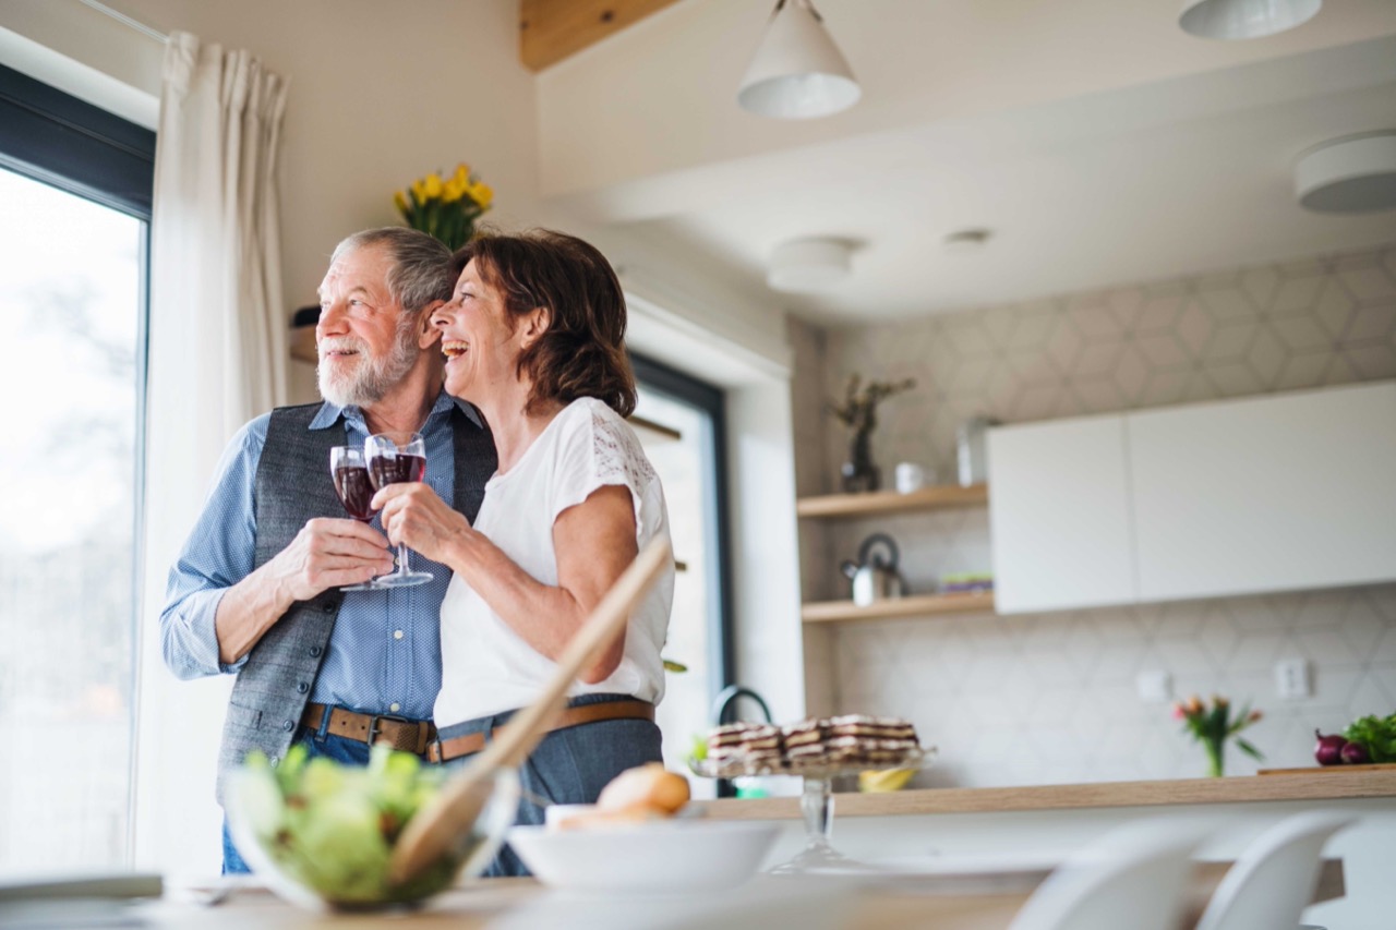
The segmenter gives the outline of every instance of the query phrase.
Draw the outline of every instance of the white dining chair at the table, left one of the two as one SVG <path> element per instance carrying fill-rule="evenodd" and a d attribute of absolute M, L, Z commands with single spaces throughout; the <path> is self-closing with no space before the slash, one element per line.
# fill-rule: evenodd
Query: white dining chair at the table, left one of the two
<path fill-rule="evenodd" d="M 1053 871 L 1011 930 L 1177 930 L 1206 832 L 1195 818 L 1115 828 Z"/>

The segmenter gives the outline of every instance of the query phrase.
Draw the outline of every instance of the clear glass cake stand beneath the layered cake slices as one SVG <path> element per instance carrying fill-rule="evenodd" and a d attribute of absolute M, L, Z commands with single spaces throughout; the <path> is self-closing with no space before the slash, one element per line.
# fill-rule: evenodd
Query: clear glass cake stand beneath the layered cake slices
<path fill-rule="evenodd" d="M 895 762 L 879 761 L 875 764 L 875 768 L 921 769 L 933 758 L 935 758 L 935 747 L 920 746 L 907 751 L 902 760 Z M 690 760 L 688 765 L 695 775 L 704 778 L 737 778 L 740 775 L 800 775 L 804 778 L 804 789 L 800 793 L 800 813 L 804 817 L 804 849 L 794 859 L 771 869 L 771 874 L 800 876 L 811 871 L 875 870 L 875 866 L 868 866 L 857 859 L 849 859 L 836 850 L 829 841 L 833 834 L 833 779 L 866 772 L 874 768 L 872 764 L 843 762 L 836 765 L 787 768 L 785 765 L 747 765 L 741 762 L 712 765 L 708 760 Z"/>

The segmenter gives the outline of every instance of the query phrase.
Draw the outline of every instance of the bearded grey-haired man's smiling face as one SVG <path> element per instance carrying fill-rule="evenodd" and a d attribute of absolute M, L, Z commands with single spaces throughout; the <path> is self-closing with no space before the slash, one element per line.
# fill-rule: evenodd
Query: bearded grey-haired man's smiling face
<path fill-rule="evenodd" d="M 383 246 L 339 257 L 320 283 L 320 394 L 338 406 L 369 406 L 398 384 L 420 355 L 416 327 L 388 295 L 392 258 Z"/>

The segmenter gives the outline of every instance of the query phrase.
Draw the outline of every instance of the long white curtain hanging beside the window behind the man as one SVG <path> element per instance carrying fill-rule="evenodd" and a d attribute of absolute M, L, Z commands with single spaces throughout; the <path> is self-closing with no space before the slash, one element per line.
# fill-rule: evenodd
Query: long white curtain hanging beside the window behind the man
<path fill-rule="evenodd" d="M 219 454 L 286 402 L 276 152 L 286 81 L 247 52 L 176 32 L 165 50 L 151 221 L 145 547 L 135 862 L 216 873 L 218 737 L 229 681 L 161 659 L 165 580 Z"/>

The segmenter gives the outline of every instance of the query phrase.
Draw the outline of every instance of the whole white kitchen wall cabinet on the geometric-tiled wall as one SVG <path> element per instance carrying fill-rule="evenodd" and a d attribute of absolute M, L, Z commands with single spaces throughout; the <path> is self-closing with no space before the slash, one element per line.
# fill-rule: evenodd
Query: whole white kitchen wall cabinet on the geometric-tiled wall
<path fill-rule="evenodd" d="M 990 433 L 1001 613 L 1396 578 L 1396 384 Z"/>

